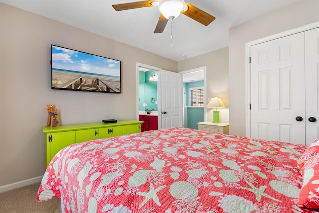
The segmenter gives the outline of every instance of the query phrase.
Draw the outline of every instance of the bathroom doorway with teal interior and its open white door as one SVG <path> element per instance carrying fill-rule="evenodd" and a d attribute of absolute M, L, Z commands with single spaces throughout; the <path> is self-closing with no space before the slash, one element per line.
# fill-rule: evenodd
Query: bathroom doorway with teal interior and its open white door
<path fill-rule="evenodd" d="M 157 115 L 158 129 L 183 126 L 182 75 L 140 63 L 136 70 L 137 119 Z"/>

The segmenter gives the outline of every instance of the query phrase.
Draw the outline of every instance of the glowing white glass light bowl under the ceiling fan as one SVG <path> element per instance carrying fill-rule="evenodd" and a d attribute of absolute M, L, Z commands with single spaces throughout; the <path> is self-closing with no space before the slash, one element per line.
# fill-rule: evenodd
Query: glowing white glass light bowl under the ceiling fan
<path fill-rule="evenodd" d="M 158 5 L 160 13 L 167 19 L 177 18 L 185 8 L 184 0 L 162 0 Z"/>

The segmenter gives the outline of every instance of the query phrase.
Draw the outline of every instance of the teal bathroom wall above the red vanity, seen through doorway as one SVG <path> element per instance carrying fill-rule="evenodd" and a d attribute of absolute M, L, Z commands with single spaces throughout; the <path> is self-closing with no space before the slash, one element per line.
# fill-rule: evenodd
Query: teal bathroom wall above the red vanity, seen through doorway
<path fill-rule="evenodd" d="M 157 81 L 149 81 L 150 76 L 157 74 L 157 71 L 139 71 L 139 110 L 158 110 L 157 100 Z M 154 98 L 154 99 L 152 99 Z M 154 101 L 153 101 L 154 100 Z M 146 107 L 143 106 L 146 103 Z"/>

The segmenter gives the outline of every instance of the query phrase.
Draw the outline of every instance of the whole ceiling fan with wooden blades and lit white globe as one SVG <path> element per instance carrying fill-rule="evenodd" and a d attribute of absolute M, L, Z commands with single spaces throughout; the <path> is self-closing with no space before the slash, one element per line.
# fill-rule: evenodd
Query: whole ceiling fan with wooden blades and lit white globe
<path fill-rule="evenodd" d="M 173 20 L 182 13 L 195 21 L 208 26 L 215 17 L 204 12 L 203 10 L 185 3 L 184 0 L 146 0 L 132 3 L 115 4 L 112 7 L 116 11 L 127 9 L 136 9 L 149 6 L 158 6 L 160 11 L 160 19 L 155 27 L 154 33 L 162 33 L 166 27 L 168 20 Z"/>

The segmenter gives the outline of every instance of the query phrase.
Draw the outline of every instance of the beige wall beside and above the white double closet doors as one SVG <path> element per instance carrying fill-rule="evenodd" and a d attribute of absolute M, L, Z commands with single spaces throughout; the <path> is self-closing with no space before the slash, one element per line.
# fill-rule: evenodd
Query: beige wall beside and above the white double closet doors
<path fill-rule="evenodd" d="M 230 134 L 246 134 L 245 44 L 269 35 L 319 21 L 319 0 L 301 0 L 229 31 Z"/>

